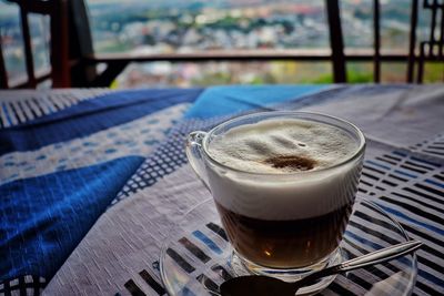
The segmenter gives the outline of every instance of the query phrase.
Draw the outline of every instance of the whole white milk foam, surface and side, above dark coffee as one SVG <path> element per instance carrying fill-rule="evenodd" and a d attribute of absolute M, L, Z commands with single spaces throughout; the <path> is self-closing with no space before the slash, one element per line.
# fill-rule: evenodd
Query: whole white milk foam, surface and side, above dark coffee
<path fill-rule="evenodd" d="M 323 123 L 285 119 L 241 125 L 212 139 L 208 153 L 229 167 L 259 174 L 208 163 L 210 187 L 225 210 L 249 217 L 321 216 L 353 202 L 362 157 L 335 164 L 357 149 L 346 132 Z"/>

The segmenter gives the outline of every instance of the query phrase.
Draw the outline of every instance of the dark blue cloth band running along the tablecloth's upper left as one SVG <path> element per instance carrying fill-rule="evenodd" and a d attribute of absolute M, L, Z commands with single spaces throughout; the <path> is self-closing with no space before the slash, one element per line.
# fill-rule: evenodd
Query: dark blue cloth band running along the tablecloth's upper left
<path fill-rule="evenodd" d="M 193 102 L 201 89 L 113 92 L 20 126 L 0 130 L 0 155 L 85 136 L 168 106 Z"/>

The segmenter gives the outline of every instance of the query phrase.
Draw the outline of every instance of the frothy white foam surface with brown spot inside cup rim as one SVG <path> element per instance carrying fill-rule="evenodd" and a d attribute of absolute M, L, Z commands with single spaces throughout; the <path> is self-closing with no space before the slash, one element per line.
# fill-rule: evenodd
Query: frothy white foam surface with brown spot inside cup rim
<path fill-rule="evenodd" d="M 209 154 L 245 172 L 285 174 L 316 171 L 341 163 L 357 150 L 344 131 L 305 120 L 264 120 L 215 136 Z"/>

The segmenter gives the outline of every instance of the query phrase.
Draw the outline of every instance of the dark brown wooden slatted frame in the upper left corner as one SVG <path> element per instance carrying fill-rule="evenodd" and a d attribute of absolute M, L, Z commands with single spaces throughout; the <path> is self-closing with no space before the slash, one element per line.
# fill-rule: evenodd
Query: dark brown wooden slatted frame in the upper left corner
<path fill-rule="evenodd" d="M 4 65 L 4 57 L 0 40 L 0 88 L 36 88 L 38 83 L 51 79 L 52 88 L 70 86 L 70 60 L 68 43 L 68 2 L 67 0 L 8 0 L 20 9 L 21 29 L 23 35 L 23 52 L 27 80 L 17 85 L 10 85 Z M 51 70 L 37 73 L 33 64 L 29 13 L 49 16 L 50 18 L 50 64 Z"/>

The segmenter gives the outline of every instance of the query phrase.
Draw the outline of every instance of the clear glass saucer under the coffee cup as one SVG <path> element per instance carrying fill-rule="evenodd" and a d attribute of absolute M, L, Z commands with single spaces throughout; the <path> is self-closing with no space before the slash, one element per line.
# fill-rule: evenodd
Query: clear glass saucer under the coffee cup
<path fill-rule="evenodd" d="M 209 198 L 188 212 L 162 246 L 160 269 L 170 295 L 220 295 L 219 285 L 236 276 L 233 248 Z M 408 241 L 401 225 L 376 204 L 356 201 L 340 245 L 343 261 Z M 416 280 L 416 256 L 408 255 L 337 275 L 324 295 L 410 295 Z"/>

